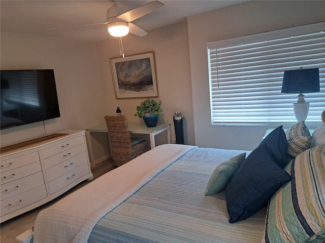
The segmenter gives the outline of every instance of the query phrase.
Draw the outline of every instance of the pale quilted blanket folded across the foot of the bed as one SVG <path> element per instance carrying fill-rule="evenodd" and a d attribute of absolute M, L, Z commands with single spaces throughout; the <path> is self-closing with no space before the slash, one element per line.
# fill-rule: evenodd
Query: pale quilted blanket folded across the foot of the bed
<path fill-rule="evenodd" d="M 194 147 L 160 145 L 127 163 L 127 167 L 110 171 L 64 197 L 40 212 L 35 222 L 34 242 L 87 242 L 92 228 L 105 214 Z M 69 231 L 66 225 L 70 225 Z"/>

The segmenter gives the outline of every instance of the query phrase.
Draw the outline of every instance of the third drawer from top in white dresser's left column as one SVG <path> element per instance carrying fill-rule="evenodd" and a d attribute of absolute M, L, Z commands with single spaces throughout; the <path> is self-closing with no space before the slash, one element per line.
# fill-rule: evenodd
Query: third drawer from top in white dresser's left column
<path fill-rule="evenodd" d="M 1 200 L 18 195 L 41 185 L 44 185 L 43 173 L 41 171 L 36 174 L 3 184 L 1 186 Z"/>

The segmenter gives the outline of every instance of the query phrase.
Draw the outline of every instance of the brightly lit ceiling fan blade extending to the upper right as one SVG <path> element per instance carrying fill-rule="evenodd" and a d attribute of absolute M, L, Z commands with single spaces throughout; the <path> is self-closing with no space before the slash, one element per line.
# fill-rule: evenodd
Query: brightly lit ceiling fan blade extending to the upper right
<path fill-rule="evenodd" d="M 131 22 L 163 6 L 164 6 L 163 3 L 160 3 L 158 1 L 153 1 L 151 3 L 127 11 L 124 14 L 117 16 L 117 18 L 120 20 L 124 20 L 125 22 Z"/>

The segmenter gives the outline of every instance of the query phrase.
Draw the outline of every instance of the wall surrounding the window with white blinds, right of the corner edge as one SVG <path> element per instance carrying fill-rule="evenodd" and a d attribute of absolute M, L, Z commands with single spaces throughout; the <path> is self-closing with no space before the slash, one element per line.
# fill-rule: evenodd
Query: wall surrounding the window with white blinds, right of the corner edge
<path fill-rule="evenodd" d="M 325 21 L 325 1 L 250 1 L 187 19 L 196 145 L 254 149 L 268 127 L 212 126 L 208 42 Z"/>

